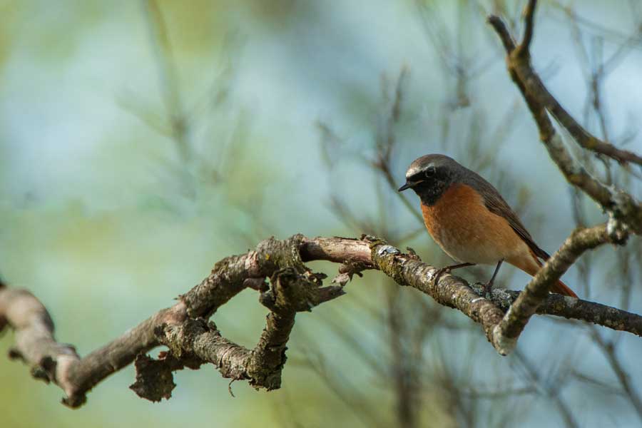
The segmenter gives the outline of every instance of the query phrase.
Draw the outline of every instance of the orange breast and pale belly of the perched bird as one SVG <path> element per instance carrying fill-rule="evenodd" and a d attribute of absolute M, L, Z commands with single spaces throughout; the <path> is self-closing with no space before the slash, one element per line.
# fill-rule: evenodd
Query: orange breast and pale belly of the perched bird
<path fill-rule="evenodd" d="M 422 204 L 424 223 L 450 257 L 465 263 L 497 263 L 526 255 L 529 248 L 508 221 L 491 213 L 469 185 L 451 185 L 432 206 Z"/>

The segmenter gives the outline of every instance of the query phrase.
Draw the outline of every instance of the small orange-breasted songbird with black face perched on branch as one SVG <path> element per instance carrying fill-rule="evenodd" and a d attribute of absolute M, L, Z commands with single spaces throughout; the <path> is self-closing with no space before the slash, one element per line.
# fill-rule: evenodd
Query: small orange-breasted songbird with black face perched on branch
<path fill-rule="evenodd" d="M 488 181 L 454 159 L 426 155 L 415 159 L 406 172 L 406 183 L 399 192 L 412 189 L 421 199 L 428 232 L 459 265 L 440 271 L 477 264 L 495 264 L 487 289 L 506 261 L 529 275 L 535 275 L 541 260 L 550 255 L 531 238 L 519 218 Z M 564 282 L 551 292 L 577 297 Z"/>

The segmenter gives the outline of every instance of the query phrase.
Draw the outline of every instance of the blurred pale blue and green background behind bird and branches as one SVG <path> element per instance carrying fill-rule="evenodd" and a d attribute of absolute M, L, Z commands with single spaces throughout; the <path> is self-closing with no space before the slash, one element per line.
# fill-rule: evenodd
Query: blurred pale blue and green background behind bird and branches
<path fill-rule="evenodd" d="M 407 165 L 446 153 L 501 190 L 541 247 L 604 220 L 550 161 L 485 24 L 513 34 L 525 1 L 0 0 L 0 273 L 48 307 L 81 355 L 275 235 L 372 233 L 427 263 Z M 541 1 L 533 62 L 589 130 L 642 151 L 642 4 Z M 582 153 L 641 198 L 641 171 Z M 584 255 L 565 281 L 642 312 L 641 240 Z M 337 265 L 313 263 L 335 274 Z M 492 267 L 457 272 L 486 280 Z M 521 289 L 512 267 L 501 285 Z M 499 357 L 467 317 L 366 273 L 297 316 L 282 389 L 211 366 L 173 398 L 128 389 L 133 367 L 78 410 L 0 359 L 1 427 L 639 426 L 642 340 L 536 317 Z M 254 290 L 222 307 L 253 347 Z M 13 343 L 0 337 L 0 352 Z M 152 352 L 156 355 L 158 350 Z"/>

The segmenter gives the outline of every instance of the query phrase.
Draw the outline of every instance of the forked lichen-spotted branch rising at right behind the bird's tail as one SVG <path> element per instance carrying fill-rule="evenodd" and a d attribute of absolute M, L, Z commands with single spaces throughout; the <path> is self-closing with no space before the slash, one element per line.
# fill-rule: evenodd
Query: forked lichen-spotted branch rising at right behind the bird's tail
<path fill-rule="evenodd" d="M 529 318 L 546 299 L 550 285 L 558 280 L 584 251 L 604 243 L 626 243 L 630 232 L 642 234 L 642 207 L 635 198 L 623 190 L 604 185 L 586 172 L 566 151 L 559 133 L 556 133 L 549 119 L 548 113 L 551 113 L 560 125 L 569 131 L 579 146 L 587 150 L 609 156 L 620 163 L 628 161 L 639 163 L 642 160 L 635 153 L 619 151 L 611 144 L 604 143 L 588 133 L 561 107 L 544 86 L 531 65 L 529 50 L 533 39 L 536 6 L 536 0 L 529 0 L 526 5 L 524 37 L 519 44 L 515 43 L 504 21 L 498 16 L 489 16 L 489 24 L 493 26 L 504 44 L 509 74 L 524 96 L 539 128 L 540 139 L 549 151 L 549 155 L 564 173 L 566 180 L 596 200 L 609 214 L 609 220 L 605 225 L 576 230 L 562 248 L 546 261 L 529 285 L 526 285 L 524 292 L 506 312 L 504 320 L 495 328 L 494 340 L 502 354 L 514 349 L 516 340 Z"/>

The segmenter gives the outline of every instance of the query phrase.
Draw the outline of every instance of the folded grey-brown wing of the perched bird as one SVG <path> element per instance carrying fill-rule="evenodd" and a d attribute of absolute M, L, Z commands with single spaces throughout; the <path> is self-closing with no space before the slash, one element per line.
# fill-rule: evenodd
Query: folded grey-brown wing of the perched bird
<path fill-rule="evenodd" d="M 509 207 L 508 203 L 506 203 L 504 198 L 501 197 L 496 188 L 494 188 L 491 183 L 484 180 L 481 175 L 474 173 L 474 171 L 469 172 L 472 174 L 468 175 L 465 180 L 467 181 L 468 185 L 470 185 L 481 194 L 481 196 L 484 198 L 484 205 L 486 205 L 486 208 L 488 208 L 491 213 L 500 215 L 501 217 L 505 218 L 509 222 L 509 225 L 511 226 L 511 228 L 513 228 L 515 233 L 519 235 L 519 238 L 524 240 L 526 245 L 529 246 L 531 251 L 537 257 L 543 260 L 548 260 L 551 257 L 549 253 L 546 253 L 546 251 L 537 246 L 529 231 L 526 230 L 523 224 L 521 224 L 521 221 L 519 220 L 517 215 L 513 210 L 511 210 L 511 207 Z"/>

